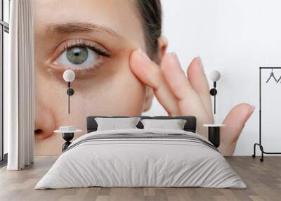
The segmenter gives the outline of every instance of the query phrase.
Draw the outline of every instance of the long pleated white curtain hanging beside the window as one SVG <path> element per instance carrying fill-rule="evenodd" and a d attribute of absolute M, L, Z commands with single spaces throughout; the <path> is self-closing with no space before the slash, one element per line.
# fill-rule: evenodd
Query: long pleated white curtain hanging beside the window
<path fill-rule="evenodd" d="M 8 170 L 33 163 L 33 9 L 32 0 L 11 1 L 10 65 L 4 69 L 4 131 L 8 133 Z"/>

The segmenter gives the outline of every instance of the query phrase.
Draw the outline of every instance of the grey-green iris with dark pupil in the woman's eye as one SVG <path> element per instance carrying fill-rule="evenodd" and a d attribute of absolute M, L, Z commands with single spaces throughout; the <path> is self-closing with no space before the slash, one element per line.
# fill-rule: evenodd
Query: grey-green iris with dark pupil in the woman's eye
<path fill-rule="evenodd" d="M 66 52 L 67 59 L 73 64 L 84 63 L 88 58 L 88 49 L 84 47 L 70 48 Z"/>

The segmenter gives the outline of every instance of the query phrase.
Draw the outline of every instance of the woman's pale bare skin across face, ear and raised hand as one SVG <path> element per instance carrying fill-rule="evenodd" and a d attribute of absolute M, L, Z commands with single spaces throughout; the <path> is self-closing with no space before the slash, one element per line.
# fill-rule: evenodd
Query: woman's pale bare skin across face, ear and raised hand
<path fill-rule="evenodd" d="M 155 55 L 161 63 L 148 59 L 140 15 L 132 2 L 34 0 L 35 155 L 60 155 L 63 139 L 53 133 L 60 126 L 85 131 L 89 115 L 141 115 L 154 96 L 171 116 L 195 115 L 197 132 L 206 136 L 202 124 L 213 123 L 214 117 L 200 58 L 192 60 L 187 76 L 176 56 L 166 53 L 166 39 L 159 37 Z M 69 65 L 60 56 L 70 44 L 98 46 L 110 56 L 89 50 L 92 63 Z M 63 81 L 67 69 L 77 76 L 70 115 Z M 227 127 L 221 130 L 223 155 L 233 154 L 253 111 L 247 103 L 230 110 L 223 122 Z"/>

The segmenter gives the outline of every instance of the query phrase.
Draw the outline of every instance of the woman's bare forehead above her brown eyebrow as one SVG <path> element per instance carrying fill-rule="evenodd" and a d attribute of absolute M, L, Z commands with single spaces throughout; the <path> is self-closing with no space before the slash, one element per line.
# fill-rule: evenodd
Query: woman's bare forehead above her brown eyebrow
<path fill-rule="evenodd" d="M 120 37 L 133 37 L 143 32 L 138 16 L 131 0 L 34 0 L 35 27 L 44 32 L 50 26 L 89 24 L 106 27 Z"/>

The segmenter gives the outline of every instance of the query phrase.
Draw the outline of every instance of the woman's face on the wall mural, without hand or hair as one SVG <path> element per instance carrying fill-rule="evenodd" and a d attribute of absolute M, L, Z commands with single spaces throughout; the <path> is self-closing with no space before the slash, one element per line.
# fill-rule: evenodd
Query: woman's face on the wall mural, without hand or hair
<path fill-rule="evenodd" d="M 60 126 L 86 132 L 89 115 L 141 115 L 145 86 L 129 56 L 145 50 L 133 1 L 34 1 L 35 155 L 59 155 Z M 113 9 L 114 8 L 114 9 Z M 67 113 L 63 72 L 76 74 Z M 77 135 L 76 137 L 78 137 Z"/>

